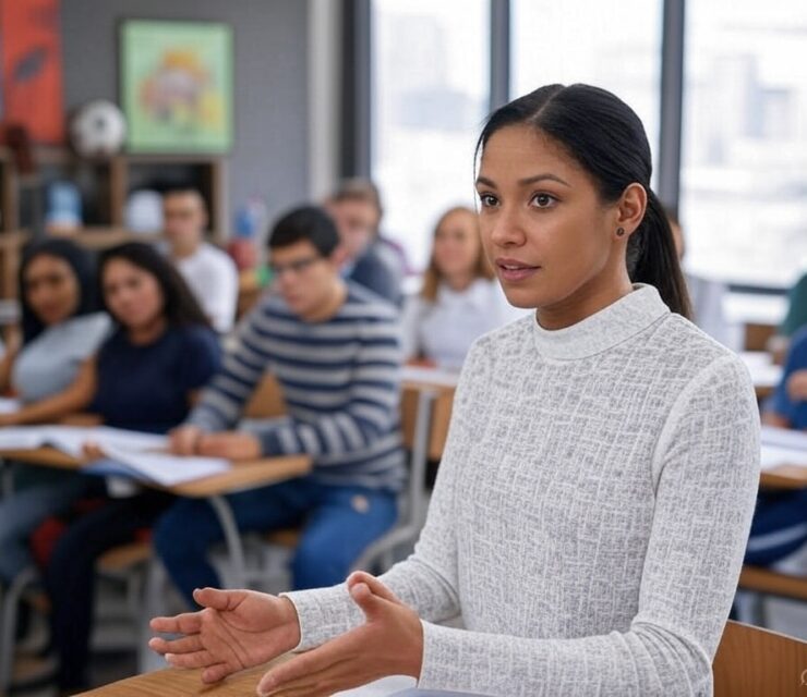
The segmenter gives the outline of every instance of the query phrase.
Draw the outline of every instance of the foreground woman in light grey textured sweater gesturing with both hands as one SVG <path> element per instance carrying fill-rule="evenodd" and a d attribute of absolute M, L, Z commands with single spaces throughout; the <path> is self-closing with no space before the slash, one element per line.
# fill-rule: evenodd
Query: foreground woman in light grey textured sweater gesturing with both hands
<path fill-rule="evenodd" d="M 290 649 L 266 695 L 389 674 L 482 695 L 710 695 L 759 475 L 740 362 L 687 319 L 641 122 L 551 85 L 479 142 L 480 225 L 534 316 L 480 339 L 429 519 L 380 578 L 280 598 L 204 589 L 153 621 L 203 680 Z M 466 628 L 441 624 L 461 614 Z"/>

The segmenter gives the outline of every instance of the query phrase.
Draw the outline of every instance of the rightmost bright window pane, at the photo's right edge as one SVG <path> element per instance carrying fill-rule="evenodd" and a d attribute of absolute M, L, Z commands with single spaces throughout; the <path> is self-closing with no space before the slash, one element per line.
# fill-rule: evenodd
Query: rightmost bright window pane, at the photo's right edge
<path fill-rule="evenodd" d="M 686 266 L 786 286 L 807 261 L 807 4 L 687 8 Z"/>

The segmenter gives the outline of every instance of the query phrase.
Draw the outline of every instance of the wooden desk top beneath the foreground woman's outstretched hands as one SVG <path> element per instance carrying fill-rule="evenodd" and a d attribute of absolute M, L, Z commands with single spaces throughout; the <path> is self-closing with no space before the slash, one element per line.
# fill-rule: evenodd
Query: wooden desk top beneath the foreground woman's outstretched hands
<path fill-rule="evenodd" d="M 286 657 L 276 659 L 275 662 L 288 660 Z M 273 663 L 251 668 L 227 680 L 214 685 L 204 685 L 200 678 L 201 669 L 180 670 L 169 668 L 164 671 L 135 675 L 82 693 L 84 697 L 190 697 L 192 695 L 204 695 L 204 697 L 243 697 L 254 695 L 257 681 L 269 670 Z"/>

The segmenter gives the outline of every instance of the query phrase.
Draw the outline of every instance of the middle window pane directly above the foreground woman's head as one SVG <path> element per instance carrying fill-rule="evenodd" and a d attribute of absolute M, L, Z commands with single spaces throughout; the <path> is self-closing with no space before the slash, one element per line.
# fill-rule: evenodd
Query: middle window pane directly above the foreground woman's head
<path fill-rule="evenodd" d="M 552 83 L 613 91 L 639 114 L 657 163 L 661 0 L 514 0 L 511 94 Z"/>

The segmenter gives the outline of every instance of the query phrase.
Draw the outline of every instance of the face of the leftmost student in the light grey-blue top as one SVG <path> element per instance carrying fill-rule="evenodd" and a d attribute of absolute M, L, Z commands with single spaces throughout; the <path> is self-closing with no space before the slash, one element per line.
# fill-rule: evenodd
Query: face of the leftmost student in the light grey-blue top
<path fill-rule="evenodd" d="M 45 326 L 72 317 L 81 303 L 81 288 L 73 268 L 59 257 L 39 254 L 23 273 L 23 293 Z"/>

